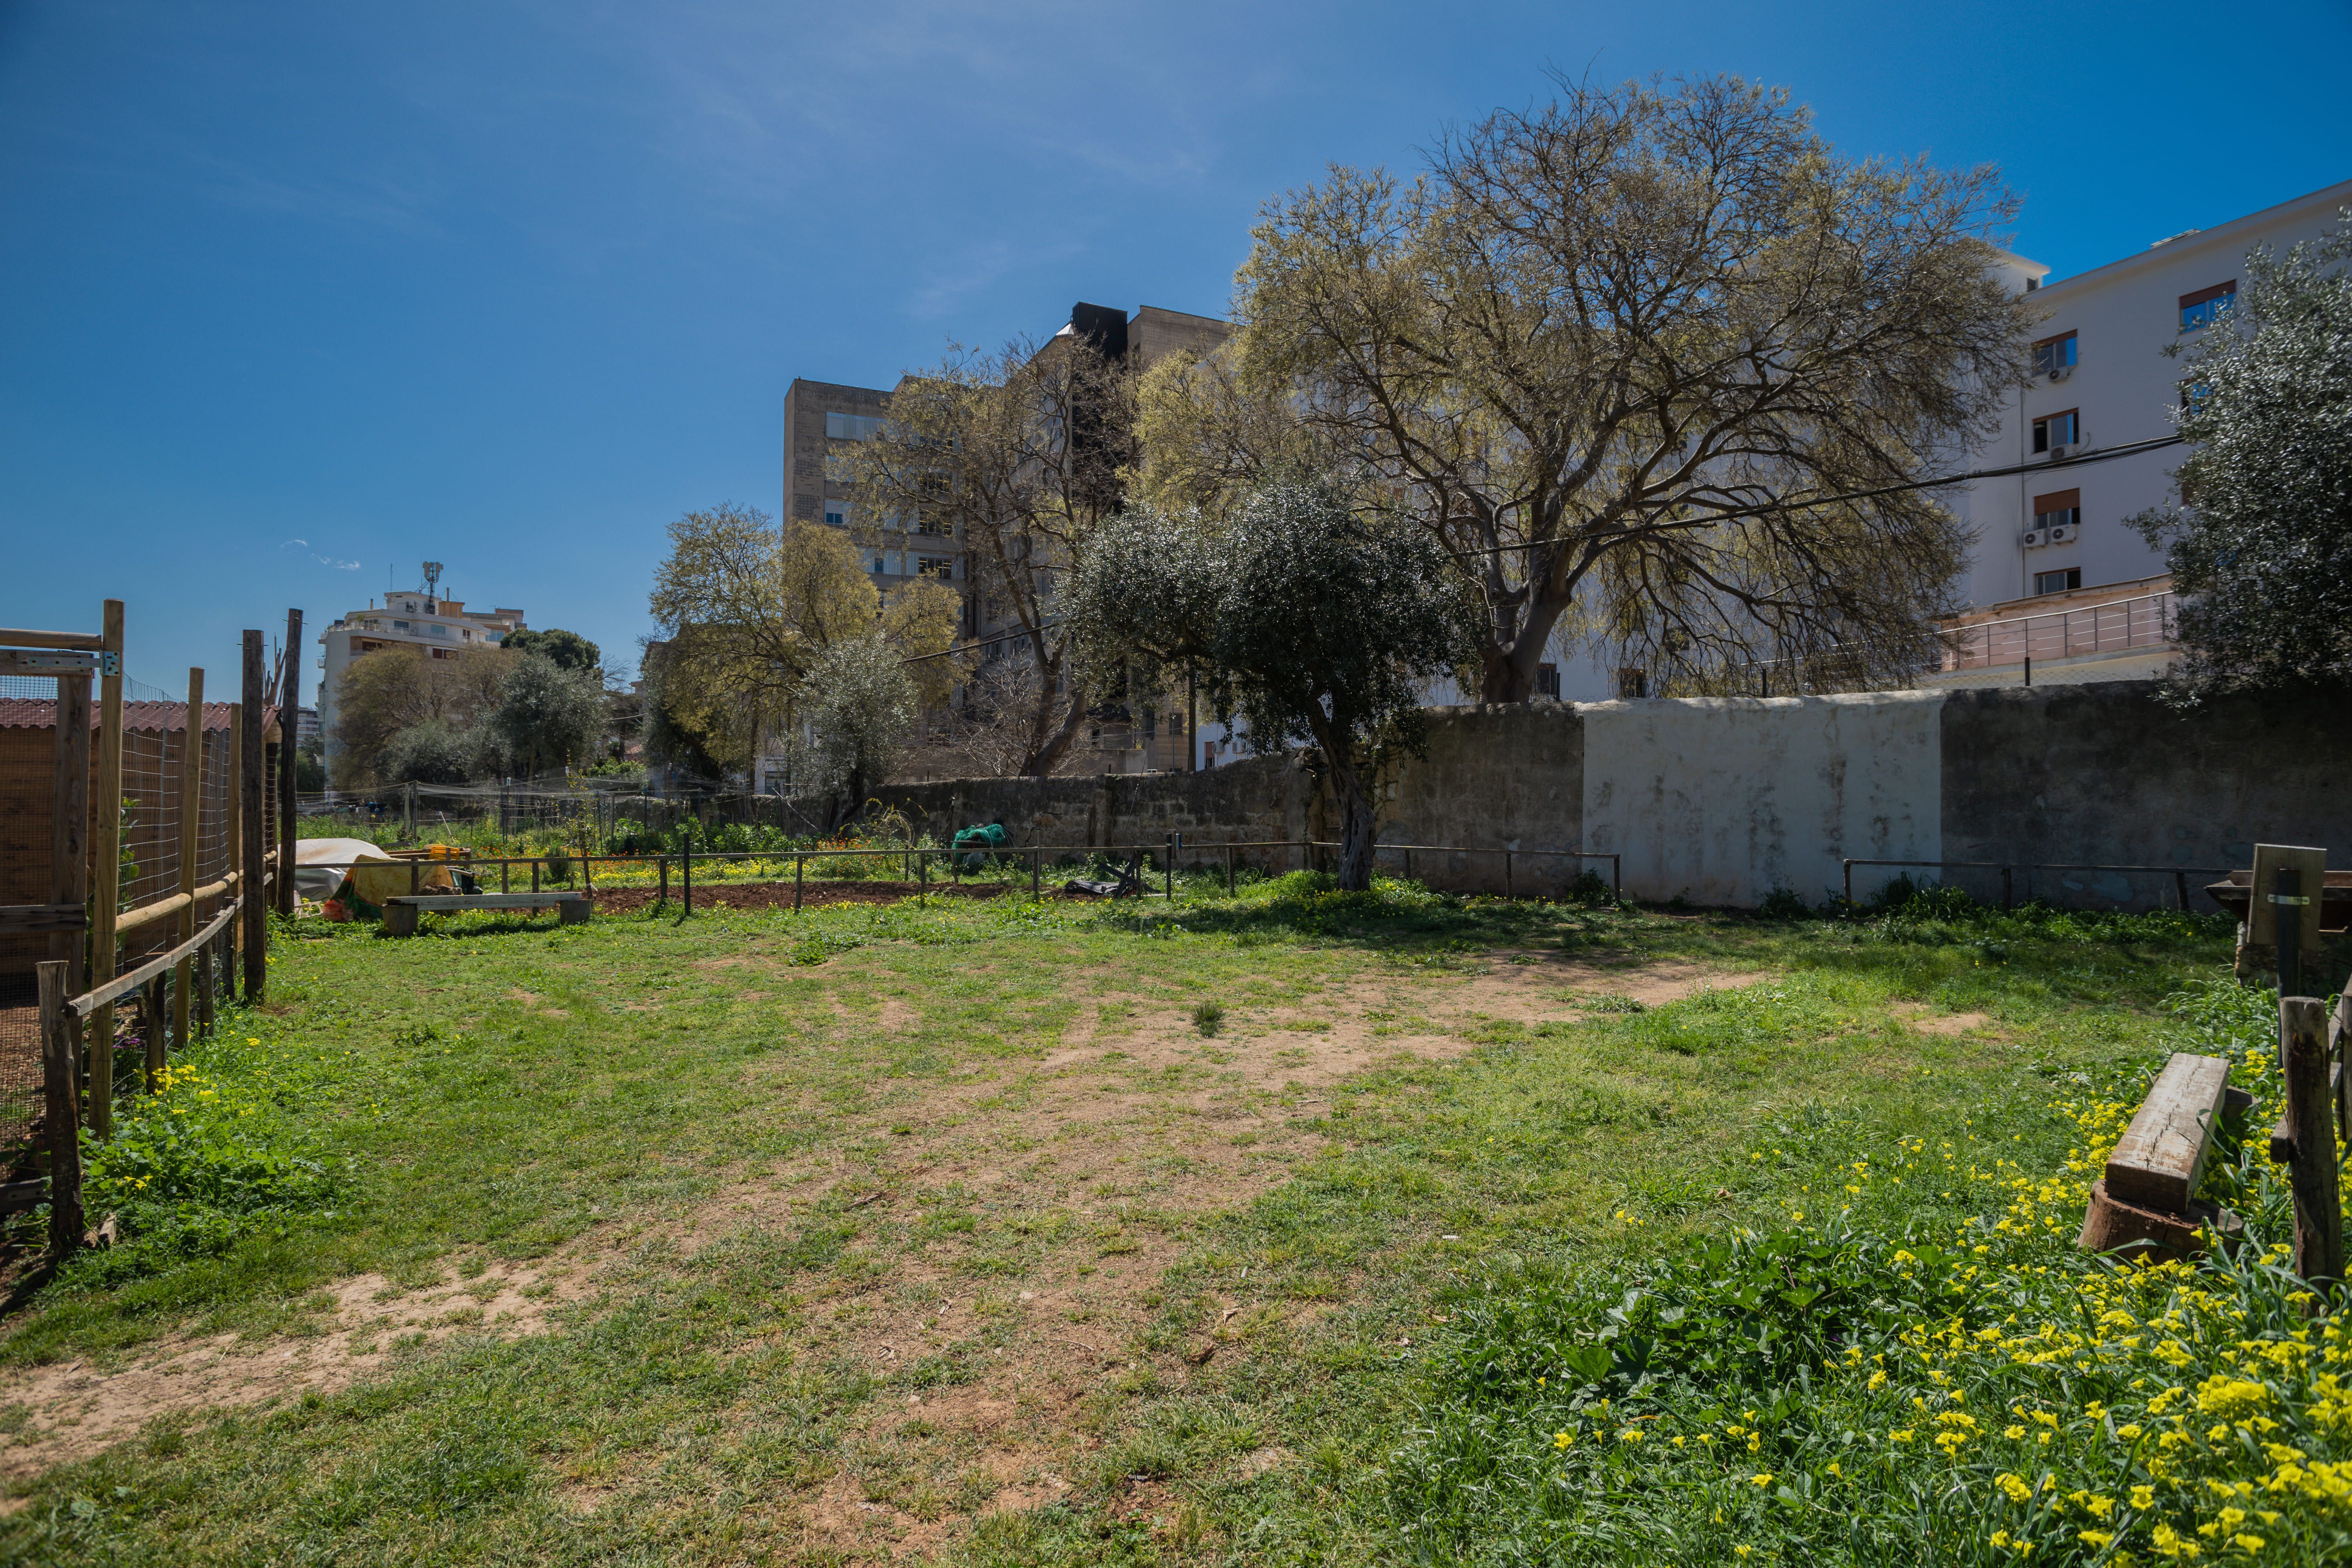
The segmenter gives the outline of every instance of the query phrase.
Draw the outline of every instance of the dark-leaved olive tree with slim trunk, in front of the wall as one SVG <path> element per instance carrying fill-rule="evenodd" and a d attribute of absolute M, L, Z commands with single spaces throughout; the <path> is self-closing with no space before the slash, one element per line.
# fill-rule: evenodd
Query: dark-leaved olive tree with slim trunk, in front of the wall
<path fill-rule="evenodd" d="M 1197 677 L 1258 752 L 1312 748 L 1341 813 L 1338 884 L 1371 886 L 1383 771 L 1425 743 L 1423 684 L 1475 618 L 1421 529 L 1277 477 L 1218 520 L 1129 510 L 1070 581 L 1063 618 L 1089 684 Z"/>

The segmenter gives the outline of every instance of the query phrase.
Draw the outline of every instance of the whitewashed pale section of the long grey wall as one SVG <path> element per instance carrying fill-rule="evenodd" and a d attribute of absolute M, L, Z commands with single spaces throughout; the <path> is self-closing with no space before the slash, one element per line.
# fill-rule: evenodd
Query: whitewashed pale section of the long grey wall
<path fill-rule="evenodd" d="M 1588 703 L 1585 846 L 1625 893 L 1752 907 L 1839 886 L 1839 858 L 1936 858 L 1940 693 Z M 1856 896 L 1896 872 L 1856 877 Z"/>

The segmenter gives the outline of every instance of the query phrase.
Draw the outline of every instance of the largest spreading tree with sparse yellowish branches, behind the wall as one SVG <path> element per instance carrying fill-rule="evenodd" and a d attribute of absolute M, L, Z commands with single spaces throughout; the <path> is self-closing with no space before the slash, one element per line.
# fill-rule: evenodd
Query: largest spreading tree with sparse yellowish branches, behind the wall
<path fill-rule="evenodd" d="M 1842 158 L 1729 78 L 1557 87 L 1411 183 L 1334 167 L 1270 202 L 1235 339 L 1141 393 L 1143 491 L 1355 475 L 1475 585 L 1482 701 L 1526 698 L 1555 639 L 1661 691 L 1926 663 L 1969 541 L 1889 487 L 2023 376 L 1997 172 Z"/>

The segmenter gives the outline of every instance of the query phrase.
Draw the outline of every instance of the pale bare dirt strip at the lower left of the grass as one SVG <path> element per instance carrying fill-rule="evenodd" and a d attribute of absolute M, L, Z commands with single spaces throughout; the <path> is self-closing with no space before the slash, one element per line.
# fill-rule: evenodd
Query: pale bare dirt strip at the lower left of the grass
<path fill-rule="evenodd" d="M 0 1439 L 0 1476 L 31 1476 L 118 1443 L 158 1415 L 273 1403 L 306 1392 L 334 1392 L 381 1368 L 412 1345 L 456 1333 L 499 1338 L 543 1333 L 548 1312 L 588 1293 L 564 1265 L 489 1265 L 473 1279 L 445 1279 L 402 1291 L 383 1274 L 358 1274 L 332 1288 L 322 1331 L 242 1342 L 233 1333 L 167 1338 L 143 1345 L 122 1366 L 64 1361 L 0 1375 L 0 1410 L 24 1408 L 14 1436 Z M 0 1502 L 0 1509 L 24 1500 Z"/>

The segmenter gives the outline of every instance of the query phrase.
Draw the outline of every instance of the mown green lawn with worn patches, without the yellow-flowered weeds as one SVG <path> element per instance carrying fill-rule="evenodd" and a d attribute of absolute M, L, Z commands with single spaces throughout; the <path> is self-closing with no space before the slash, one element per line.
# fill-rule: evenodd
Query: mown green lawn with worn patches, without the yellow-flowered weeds
<path fill-rule="evenodd" d="M 2157 1060 L 2159 999 L 2225 957 L 2220 924 L 2161 914 L 1757 922 L 1312 877 L 407 943 L 306 922 L 270 1006 L 183 1065 L 252 1110 L 240 1159 L 343 1185 L 261 1182 L 226 1244 L 80 1260 L 0 1363 L 301 1345 L 350 1328 L 325 1291 L 367 1272 L 423 1300 L 527 1265 L 567 1281 L 548 1331 L 386 1340 L 348 1389 L 158 1418 L 16 1483 L 0 1549 L 1458 1554 L 1414 1533 L 1397 1455 L 1465 1302 L 1790 1213 L 1959 1225 L 1980 1187 L 1842 1173 L 1903 1138 L 2060 1161 L 2056 1098 Z M 1661 959 L 1771 978 L 1611 999 Z M 1552 964 L 1578 969 L 1536 1006 L 1470 1006 Z M 1985 1023 L 1912 1023 L 1952 1013 Z M 1390 1056 L 1437 1039 L 1458 1056 Z"/>

